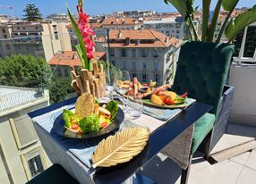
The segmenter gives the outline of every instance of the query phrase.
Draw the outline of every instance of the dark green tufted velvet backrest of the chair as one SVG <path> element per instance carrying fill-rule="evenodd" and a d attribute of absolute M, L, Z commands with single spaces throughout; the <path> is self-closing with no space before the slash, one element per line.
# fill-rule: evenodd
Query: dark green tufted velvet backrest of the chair
<path fill-rule="evenodd" d="M 173 90 L 188 92 L 198 102 L 213 105 L 217 113 L 235 46 L 187 41 L 181 47 Z"/>

